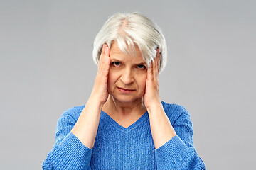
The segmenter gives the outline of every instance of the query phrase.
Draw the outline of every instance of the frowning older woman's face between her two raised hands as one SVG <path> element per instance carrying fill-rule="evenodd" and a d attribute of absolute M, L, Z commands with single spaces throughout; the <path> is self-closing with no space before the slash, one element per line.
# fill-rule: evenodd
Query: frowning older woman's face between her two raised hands
<path fill-rule="evenodd" d="M 113 42 L 107 81 L 109 94 L 124 103 L 141 99 L 146 89 L 146 67 L 138 47 L 135 55 L 127 55 L 119 49 L 117 42 Z"/>

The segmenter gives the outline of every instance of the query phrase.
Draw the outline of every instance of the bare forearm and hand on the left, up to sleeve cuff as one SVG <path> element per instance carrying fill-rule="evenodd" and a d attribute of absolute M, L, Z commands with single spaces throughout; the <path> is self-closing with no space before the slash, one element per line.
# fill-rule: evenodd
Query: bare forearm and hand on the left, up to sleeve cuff
<path fill-rule="evenodd" d="M 100 113 L 103 104 L 109 96 L 107 92 L 107 79 L 110 69 L 110 48 L 107 45 L 102 47 L 98 72 L 90 98 L 83 108 L 77 123 L 71 132 L 78 137 L 83 145 L 93 148 L 97 135 L 97 128 L 100 121 Z"/>

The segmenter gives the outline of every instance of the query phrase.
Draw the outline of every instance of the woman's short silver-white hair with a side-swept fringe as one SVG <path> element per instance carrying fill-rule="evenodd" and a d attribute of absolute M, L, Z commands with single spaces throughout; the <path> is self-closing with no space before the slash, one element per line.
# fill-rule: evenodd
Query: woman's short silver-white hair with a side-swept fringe
<path fill-rule="evenodd" d="M 166 40 L 159 26 L 142 13 L 115 13 L 110 16 L 99 33 L 93 47 L 93 60 L 98 64 L 104 44 L 111 48 L 116 41 L 122 52 L 128 52 L 134 45 L 139 47 L 143 60 L 149 63 L 156 57 L 156 49 L 161 54 L 160 72 L 167 62 Z"/>

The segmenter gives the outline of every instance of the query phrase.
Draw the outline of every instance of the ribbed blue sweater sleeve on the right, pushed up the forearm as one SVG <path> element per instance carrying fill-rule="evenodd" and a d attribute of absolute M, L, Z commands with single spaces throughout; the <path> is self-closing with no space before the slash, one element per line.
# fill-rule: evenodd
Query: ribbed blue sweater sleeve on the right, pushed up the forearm
<path fill-rule="evenodd" d="M 185 108 L 173 127 L 177 135 L 155 149 L 157 169 L 206 169 L 193 146 L 193 126 Z"/>

